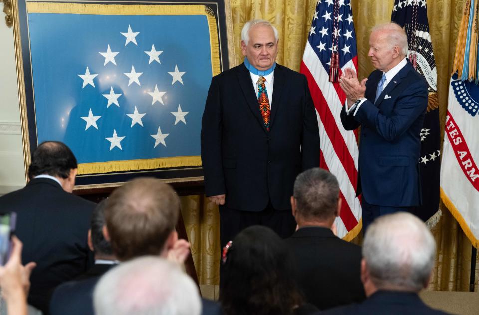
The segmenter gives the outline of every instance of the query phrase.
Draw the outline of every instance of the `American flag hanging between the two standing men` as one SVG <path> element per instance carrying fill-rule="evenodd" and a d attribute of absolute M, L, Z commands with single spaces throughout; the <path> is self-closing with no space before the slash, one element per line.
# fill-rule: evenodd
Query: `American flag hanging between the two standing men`
<path fill-rule="evenodd" d="M 340 217 L 335 221 L 338 236 L 351 240 L 361 229 L 361 205 L 356 197 L 358 144 L 356 134 L 346 131 L 341 124 L 340 112 L 346 95 L 339 83 L 330 82 L 333 53 L 339 59 L 338 75 L 345 68 L 354 68 L 357 72 L 356 34 L 350 0 L 318 1 L 300 72 L 308 79 L 317 111 L 321 138 L 320 165 L 339 181 L 343 202 Z M 331 78 L 334 79 L 333 76 Z"/>

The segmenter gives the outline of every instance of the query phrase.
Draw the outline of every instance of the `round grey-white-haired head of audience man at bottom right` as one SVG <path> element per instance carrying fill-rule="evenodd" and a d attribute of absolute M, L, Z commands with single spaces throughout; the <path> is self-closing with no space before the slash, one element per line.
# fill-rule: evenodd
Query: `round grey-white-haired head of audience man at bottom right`
<path fill-rule="evenodd" d="M 361 280 L 367 296 L 377 290 L 419 292 L 428 285 L 436 243 L 412 214 L 377 218 L 366 232 L 362 250 Z"/>

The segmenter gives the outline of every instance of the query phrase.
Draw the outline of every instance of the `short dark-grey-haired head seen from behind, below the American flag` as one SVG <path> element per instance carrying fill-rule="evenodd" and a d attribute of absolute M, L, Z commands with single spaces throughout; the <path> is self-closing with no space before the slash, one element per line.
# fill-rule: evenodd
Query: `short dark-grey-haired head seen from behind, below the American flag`
<path fill-rule="evenodd" d="M 319 167 L 302 172 L 294 182 L 291 208 L 299 227 L 331 227 L 341 208 L 338 180 Z"/>

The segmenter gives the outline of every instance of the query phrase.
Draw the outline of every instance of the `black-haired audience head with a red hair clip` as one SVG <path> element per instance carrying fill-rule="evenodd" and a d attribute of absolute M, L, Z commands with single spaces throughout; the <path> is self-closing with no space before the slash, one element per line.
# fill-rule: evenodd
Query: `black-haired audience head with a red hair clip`
<path fill-rule="evenodd" d="M 270 228 L 242 230 L 223 255 L 220 300 L 226 315 L 292 314 L 302 302 L 292 253 Z"/>

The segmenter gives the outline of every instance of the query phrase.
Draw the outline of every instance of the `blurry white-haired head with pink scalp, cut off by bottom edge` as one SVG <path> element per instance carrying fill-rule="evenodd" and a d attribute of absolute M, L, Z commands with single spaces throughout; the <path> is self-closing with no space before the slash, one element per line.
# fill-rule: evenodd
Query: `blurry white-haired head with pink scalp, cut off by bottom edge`
<path fill-rule="evenodd" d="M 145 256 L 120 264 L 98 282 L 97 315 L 200 315 L 198 287 L 165 259 Z"/>

